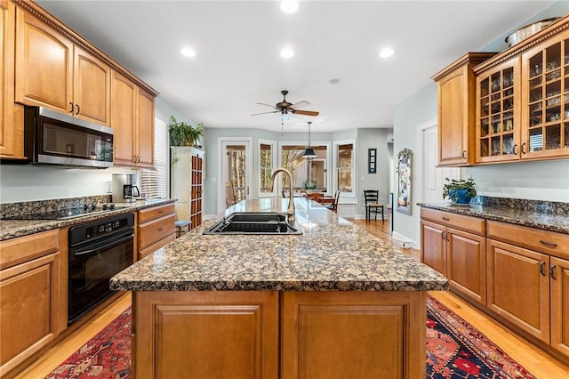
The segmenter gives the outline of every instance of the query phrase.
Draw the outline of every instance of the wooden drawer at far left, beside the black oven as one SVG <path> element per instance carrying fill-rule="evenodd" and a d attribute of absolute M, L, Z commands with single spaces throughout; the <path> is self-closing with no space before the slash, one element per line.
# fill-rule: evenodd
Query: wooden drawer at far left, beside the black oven
<path fill-rule="evenodd" d="M 60 250 L 60 230 L 47 230 L 30 236 L 0 242 L 0 269 Z"/>

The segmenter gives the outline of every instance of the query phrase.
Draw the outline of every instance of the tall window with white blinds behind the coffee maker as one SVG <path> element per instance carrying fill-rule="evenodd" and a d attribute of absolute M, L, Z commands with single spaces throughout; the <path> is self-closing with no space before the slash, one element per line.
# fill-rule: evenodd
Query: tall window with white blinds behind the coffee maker
<path fill-rule="evenodd" d="M 157 113 L 157 112 L 156 112 Z M 169 136 L 168 125 L 163 115 L 156 115 L 154 121 L 154 167 L 155 170 L 141 170 L 140 190 L 147 198 L 168 198 Z"/>

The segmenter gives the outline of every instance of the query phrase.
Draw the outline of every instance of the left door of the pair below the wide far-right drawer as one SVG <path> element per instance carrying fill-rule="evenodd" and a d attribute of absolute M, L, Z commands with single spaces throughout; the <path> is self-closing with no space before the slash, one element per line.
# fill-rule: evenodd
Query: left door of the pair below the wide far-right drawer
<path fill-rule="evenodd" d="M 487 239 L 488 307 L 549 343 L 549 255 Z"/>

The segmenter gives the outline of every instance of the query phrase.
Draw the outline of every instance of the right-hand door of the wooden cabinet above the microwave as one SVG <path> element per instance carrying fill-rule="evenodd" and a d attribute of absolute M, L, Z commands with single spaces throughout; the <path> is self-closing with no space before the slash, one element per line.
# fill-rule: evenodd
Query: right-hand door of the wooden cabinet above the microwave
<path fill-rule="evenodd" d="M 73 114 L 101 125 L 110 124 L 110 67 L 75 47 Z"/>

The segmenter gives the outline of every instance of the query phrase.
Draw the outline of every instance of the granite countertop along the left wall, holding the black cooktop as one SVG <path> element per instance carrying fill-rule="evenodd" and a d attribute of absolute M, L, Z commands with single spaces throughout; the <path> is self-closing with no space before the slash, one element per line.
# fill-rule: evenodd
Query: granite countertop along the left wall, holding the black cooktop
<path fill-rule="evenodd" d="M 27 236 L 29 234 L 39 233 L 40 231 L 63 228 L 81 222 L 90 222 L 92 220 L 115 216 L 116 214 L 127 214 L 140 209 L 162 206 L 173 202 L 175 202 L 174 199 L 148 199 L 138 200 L 132 203 L 115 203 L 123 207 L 103 214 L 90 214 L 67 220 L 0 220 L 0 240 Z"/>

